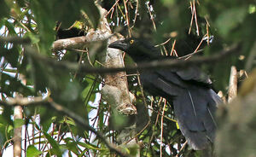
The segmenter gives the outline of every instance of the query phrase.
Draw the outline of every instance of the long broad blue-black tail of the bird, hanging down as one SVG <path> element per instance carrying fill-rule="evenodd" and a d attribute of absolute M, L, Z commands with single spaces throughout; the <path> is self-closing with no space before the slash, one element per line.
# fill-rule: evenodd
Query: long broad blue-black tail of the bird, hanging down
<path fill-rule="evenodd" d="M 195 150 L 207 148 L 214 140 L 214 113 L 221 99 L 213 90 L 189 88 L 173 101 L 177 123 L 189 145 Z"/>

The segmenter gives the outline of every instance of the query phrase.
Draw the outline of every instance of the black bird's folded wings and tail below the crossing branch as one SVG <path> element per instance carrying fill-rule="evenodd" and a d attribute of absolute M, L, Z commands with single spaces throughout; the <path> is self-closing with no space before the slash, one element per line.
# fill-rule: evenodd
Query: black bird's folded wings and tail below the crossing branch
<path fill-rule="evenodd" d="M 191 79 L 200 79 L 189 77 L 187 73 L 178 74 L 177 71 L 141 73 L 141 79 L 145 90 L 173 102 L 181 131 L 193 148 L 206 148 L 213 141 L 216 128 L 214 113 L 216 104 L 221 102 L 213 90 L 199 84 L 188 84 Z"/>

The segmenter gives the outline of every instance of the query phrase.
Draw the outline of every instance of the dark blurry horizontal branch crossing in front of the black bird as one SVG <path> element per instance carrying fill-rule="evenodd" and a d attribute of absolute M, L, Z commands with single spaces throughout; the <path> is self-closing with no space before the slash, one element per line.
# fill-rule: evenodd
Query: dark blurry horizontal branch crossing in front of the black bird
<path fill-rule="evenodd" d="M 240 50 L 240 46 L 234 44 L 230 46 L 229 49 L 224 49 L 216 55 L 212 56 L 195 56 L 189 60 L 173 60 L 166 59 L 162 61 L 150 61 L 144 63 L 138 63 L 136 66 L 129 67 L 113 67 L 113 68 L 96 68 L 96 67 L 87 67 L 85 65 L 79 65 L 78 63 L 73 63 L 69 61 L 55 61 L 54 59 L 50 59 L 43 55 L 39 55 L 35 52 L 34 49 L 30 47 L 26 47 L 25 53 L 26 55 L 32 56 L 36 61 L 43 61 L 46 64 L 49 64 L 52 67 L 60 68 L 67 71 L 78 71 L 79 73 L 118 73 L 118 72 L 136 72 L 137 70 L 145 71 L 145 70 L 153 70 L 160 68 L 170 68 L 170 67 L 188 67 L 191 65 L 201 65 L 204 63 L 210 63 L 214 61 L 221 61 L 224 58 L 234 55 L 238 53 Z"/>

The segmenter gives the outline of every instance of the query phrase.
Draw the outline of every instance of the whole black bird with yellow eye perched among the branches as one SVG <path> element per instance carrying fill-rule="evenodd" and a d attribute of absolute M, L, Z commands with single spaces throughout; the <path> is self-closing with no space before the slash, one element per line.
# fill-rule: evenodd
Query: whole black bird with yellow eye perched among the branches
<path fill-rule="evenodd" d="M 121 49 L 133 61 L 160 60 L 160 49 L 138 38 L 126 38 L 109 44 Z M 172 102 L 177 123 L 189 145 L 195 150 L 207 148 L 214 140 L 214 113 L 221 99 L 211 89 L 212 81 L 198 67 L 170 68 L 140 72 L 144 90 Z"/>

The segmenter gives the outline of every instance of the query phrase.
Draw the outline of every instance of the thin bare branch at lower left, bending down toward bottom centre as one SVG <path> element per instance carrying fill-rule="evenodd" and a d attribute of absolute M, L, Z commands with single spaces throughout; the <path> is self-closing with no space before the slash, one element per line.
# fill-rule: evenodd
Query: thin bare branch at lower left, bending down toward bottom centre
<path fill-rule="evenodd" d="M 3 105 L 3 106 L 37 106 L 37 105 L 47 106 L 49 108 L 54 109 L 58 113 L 65 114 L 68 117 L 72 118 L 82 128 L 85 128 L 85 129 L 95 133 L 96 136 L 99 139 L 101 139 L 102 142 L 104 142 L 106 144 L 106 146 L 109 148 L 110 151 L 115 152 L 116 154 L 119 154 L 122 157 L 130 156 L 129 154 L 125 154 L 125 153 L 121 152 L 121 150 L 119 148 L 116 148 L 115 146 L 113 146 L 113 144 L 108 142 L 106 140 L 107 137 L 105 137 L 102 134 L 102 132 L 96 131 L 93 127 L 91 127 L 88 123 L 86 123 L 84 121 L 84 119 L 82 117 L 80 117 L 77 113 L 73 113 L 69 109 L 64 108 L 60 104 L 54 102 L 49 97 L 46 99 L 42 99 L 41 96 L 38 96 L 38 97 L 34 97 L 33 101 L 31 101 L 30 98 L 9 98 L 9 99 L 10 99 L 10 101 L 8 101 L 8 102 L 0 101 L 0 105 Z"/>

